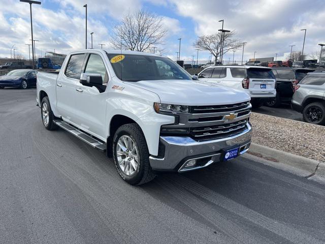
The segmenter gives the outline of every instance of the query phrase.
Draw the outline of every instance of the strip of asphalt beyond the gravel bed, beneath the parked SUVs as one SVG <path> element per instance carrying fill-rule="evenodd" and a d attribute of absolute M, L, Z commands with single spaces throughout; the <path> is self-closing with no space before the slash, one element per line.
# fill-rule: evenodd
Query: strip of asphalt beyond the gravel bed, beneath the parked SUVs
<path fill-rule="evenodd" d="M 304 121 L 303 115 L 290 108 L 290 104 L 281 104 L 278 108 L 271 108 L 267 106 L 262 106 L 261 108 L 252 109 L 253 112 L 268 114 L 281 118 L 288 118 L 298 121 Z"/>

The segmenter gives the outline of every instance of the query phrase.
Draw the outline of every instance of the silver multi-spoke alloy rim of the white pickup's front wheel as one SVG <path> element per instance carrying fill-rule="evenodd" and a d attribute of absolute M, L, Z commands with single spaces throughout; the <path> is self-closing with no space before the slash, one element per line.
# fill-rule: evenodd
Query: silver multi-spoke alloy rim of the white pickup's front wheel
<path fill-rule="evenodd" d="M 116 145 L 116 156 L 119 168 L 127 176 L 136 173 L 139 166 L 138 148 L 134 140 L 126 135 L 121 136 Z"/>

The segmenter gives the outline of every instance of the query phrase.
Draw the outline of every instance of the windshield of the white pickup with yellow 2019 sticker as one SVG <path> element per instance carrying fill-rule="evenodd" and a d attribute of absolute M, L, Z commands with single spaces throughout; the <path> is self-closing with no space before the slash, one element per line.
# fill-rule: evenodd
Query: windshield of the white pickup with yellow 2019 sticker
<path fill-rule="evenodd" d="M 167 57 L 116 53 L 107 55 L 116 76 L 123 81 L 192 79 Z"/>

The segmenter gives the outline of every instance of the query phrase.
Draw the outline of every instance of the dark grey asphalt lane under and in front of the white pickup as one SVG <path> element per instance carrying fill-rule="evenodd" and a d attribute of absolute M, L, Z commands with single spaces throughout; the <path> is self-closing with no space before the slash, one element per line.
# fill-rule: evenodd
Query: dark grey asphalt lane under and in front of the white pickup
<path fill-rule="evenodd" d="M 0 89 L 0 138 L 0 243 L 325 242 L 323 185 L 237 158 L 129 186 L 36 89 Z"/>

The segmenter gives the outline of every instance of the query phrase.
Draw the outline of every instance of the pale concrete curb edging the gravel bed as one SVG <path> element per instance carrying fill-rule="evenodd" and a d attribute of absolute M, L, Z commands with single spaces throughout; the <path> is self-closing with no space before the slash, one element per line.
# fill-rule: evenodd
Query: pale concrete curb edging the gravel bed
<path fill-rule="evenodd" d="M 325 163 L 251 143 L 243 157 L 325 184 Z"/>

